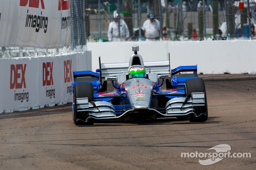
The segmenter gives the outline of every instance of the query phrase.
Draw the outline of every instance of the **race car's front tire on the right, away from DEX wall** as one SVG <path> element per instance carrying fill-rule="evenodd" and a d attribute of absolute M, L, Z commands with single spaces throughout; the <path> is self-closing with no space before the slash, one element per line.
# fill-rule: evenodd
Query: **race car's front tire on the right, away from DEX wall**
<path fill-rule="evenodd" d="M 208 109 L 207 109 L 206 90 L 204 86 L 204 80 L 202 78 L 192 78 L 185 81 L 186 96 L 188 96 L 189 94 L 191 95 L 191 93 L 195 93 L 195 92 L 204 92 L 205 94 L 205 107 L 193 108 L 195 113 L 200 114 L 204 112 L 204 114 L 198 117 L 195 117 L 193 114 L 190 114 L 188 116 L 188 120 L 190 122 L 205 122 L 208 119 Z"/>

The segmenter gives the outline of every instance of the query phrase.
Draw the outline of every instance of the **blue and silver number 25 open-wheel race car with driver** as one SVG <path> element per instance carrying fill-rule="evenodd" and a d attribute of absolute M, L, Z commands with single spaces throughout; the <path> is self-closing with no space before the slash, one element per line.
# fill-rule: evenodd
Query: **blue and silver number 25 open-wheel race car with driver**
<path fill-rule="evenodd" d="M 73 72 L 76 125 L 92 125 L 94 120 L 154 121 L 160 117 L 207 120 L 206 91 L 204 80 L 197 76 L 197 65 L 171 70 L 170 55 L 169 61 L 143 62 L 137 53 L 139 46 L 132 46 L 132 51 L 129 63 L 100 63 L 99 57 L 100 69 L 96 72 Z M 178 74 L 181 72 L 193 73 Z M 103 83 L 102 78 L 106 80 Z M 162 89 L 165 79 L 166 89 Z M 107 81 L 115 88 L 113 92 L 107 92 Z"/>

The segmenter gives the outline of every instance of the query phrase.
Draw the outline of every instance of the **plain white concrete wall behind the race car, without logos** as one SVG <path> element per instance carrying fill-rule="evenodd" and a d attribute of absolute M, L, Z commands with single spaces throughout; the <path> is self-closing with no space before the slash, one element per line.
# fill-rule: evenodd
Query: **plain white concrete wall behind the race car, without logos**
<path fill-rule="evenodd" d="M 171 68 L 196 65 L 204 74 L 256 73 L 255 40 L 241 41 L 142 41 L 87 43 L 92 51 L 92 71 L 101 63 L 129 62 L 132 46 L 138 45 L 143 61 L 168 60 Z"/>

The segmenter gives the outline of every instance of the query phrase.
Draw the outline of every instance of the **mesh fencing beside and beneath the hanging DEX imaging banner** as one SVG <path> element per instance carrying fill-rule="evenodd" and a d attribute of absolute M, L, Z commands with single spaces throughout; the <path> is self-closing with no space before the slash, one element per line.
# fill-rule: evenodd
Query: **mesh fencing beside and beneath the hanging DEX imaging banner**
<path fill-rule="evenodd" d="M 85 30 L 86 16 L 84 12 L 85 2 L 86 0 L 70 1 L 71 37 L 70 44 L 68 46 L 53 49 L 30 47 L 0 47 L 0 58 L 55 56 L 87 50 Z"/>

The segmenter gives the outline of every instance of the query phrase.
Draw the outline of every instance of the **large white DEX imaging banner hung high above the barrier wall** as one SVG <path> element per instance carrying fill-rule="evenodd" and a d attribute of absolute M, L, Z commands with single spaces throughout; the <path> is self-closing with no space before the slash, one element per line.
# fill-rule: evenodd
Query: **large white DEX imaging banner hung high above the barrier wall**
<path fill-rule="evenodd" d="M 70 1 L 0 0 L 0 46 L 66 46 L 70 42 Z"/>

